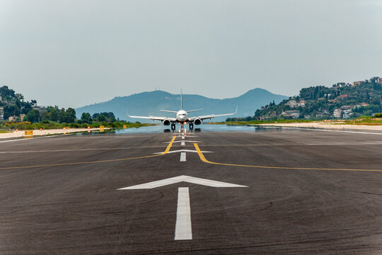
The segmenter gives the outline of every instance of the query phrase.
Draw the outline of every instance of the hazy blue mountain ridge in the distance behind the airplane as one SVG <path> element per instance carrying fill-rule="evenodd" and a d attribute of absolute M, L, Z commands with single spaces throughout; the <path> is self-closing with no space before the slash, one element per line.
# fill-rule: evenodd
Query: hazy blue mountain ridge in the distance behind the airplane
<path fill-rule="evenodd" d="M 211 113 L 233 113 L 236 106 L 238 106 L 236 116 L 248 116 L 253 115 L 261 106 L 265 106 L 272 101 L 279 103 L 287 98 L 287 96 L 272 94 L 265 89 L 252 89 L 236 98 L 226 99 L 184 94 L 183 108 L 186 111 L 199 108 L 204 109 L 196 113 L 190 113 L 191 116 L 194 116 Z M 75 110 L 77 118 L 81 118 L 82 113 L 91 113 L 93 115 L 93 113 L 112 112 L 115 114 L 115 118 L 120 118 L 120 120 L 139 121 L 142 123 L 151 122 L 151 120 L 132 119 L 127 116 L 127 112 L 130 115 L 175 116 L 173 113 L 161 112 L 159 111 L 160 109 L 178 111 L 180 109 L 180 95 L 170 94 L 165 91 L 142 92 L 131 96 L 118 96 L 107 102 L 95 103 L 90 106 L 76 108 Z M 213 120 L 226 120 L 226 117 L 214 118 Z"/>

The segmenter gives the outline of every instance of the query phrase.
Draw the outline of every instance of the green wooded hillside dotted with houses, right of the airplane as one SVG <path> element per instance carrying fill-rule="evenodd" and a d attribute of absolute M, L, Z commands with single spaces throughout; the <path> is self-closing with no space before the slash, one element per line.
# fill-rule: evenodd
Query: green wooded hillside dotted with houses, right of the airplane
<path fill-rule="evenodd" d="M 330 119 L 355 118 L 382 112 L 382 78 L 337 83 L 332 87 L 311 86 L 301 89 L 299 96 L 279 104 L 270 103 L 247 118 L 228 118 L 228 121 L 267 120 L 277 118 Z"/>

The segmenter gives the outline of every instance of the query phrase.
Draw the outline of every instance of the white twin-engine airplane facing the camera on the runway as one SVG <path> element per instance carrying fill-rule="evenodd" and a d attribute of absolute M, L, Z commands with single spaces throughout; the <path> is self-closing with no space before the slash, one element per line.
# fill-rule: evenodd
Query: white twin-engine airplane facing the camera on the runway
<path fill-rule="evenodd" d="M 238 108 L 236 107 L 235 113 L 226 113 L 226 114 L 219 114 L 219 115 L 202 115 L 202 116 L 197 116 L 197 117 L 189 117 L 188 113 L 192 113 L 195 111 L 201 111 L 203 109 L 197 109 L 197 110 L 191 110 L 191 111 L 185 111 L 183 110 L 183 94 L 180 92 L 180 110 L 179 111 L 168 111 L 168 110 L 159 110 L 159 111 L 164 111 L 168 113 L 176 113 L 175 118 L 168 118 L 168 117 L 156 117 L 156 116 L 131 116 L 129 115 L 130 118 L 144 118 L 144 119 L 149 119 L 149 120 L 161 120 L 163 125 L 171 125 L 171 130 L 175 130 L 175 125 L 176 123 L 181 124 L 182 128 L 183 125 L 189 124 L 190 125 L 190 130 L 194 129 L 194 123 L 195 125 L 200 125 L 202 124 L 203 120 L 207 119 L 212 119 L 215 117 L 220 117 L 220 116 L 228 116 L 228 115 L 234 115 L 238 111 Z"/>

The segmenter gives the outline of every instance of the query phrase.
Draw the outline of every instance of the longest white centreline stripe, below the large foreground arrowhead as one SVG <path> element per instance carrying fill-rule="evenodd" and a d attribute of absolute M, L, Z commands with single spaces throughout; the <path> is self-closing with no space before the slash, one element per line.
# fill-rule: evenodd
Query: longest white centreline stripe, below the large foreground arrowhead
<path fill-rule="evenodd" d="M 191 240 L 191 208 L 188 187 L 178 188 L 178 207 L 176 210 L 175 240 Z"/>

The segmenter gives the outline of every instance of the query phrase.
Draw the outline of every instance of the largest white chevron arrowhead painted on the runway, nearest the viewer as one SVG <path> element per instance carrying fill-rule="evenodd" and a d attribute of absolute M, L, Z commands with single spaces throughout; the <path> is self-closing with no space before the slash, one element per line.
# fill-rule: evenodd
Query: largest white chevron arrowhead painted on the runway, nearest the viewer
<path fill-rule="evenodd" d="M 166 186 L 166 185 L 170 185 L 174 183 L 180 183 L 182 181 L 209 186 L 209 187 L 215 187 L 215 188 L 248 187 L 248 186 L 243 186 L 243 185 L 238 185 L 233 183 L 225 183 L 222 181 L 212 181 L 208 179 L 202 179 L 202 178 L 183 175 L 183 176 L 176 176 L 176 177 L 171 177 L 168 179 L 163 179 L 160 181 L 151 181 L 149 183 L 143 183 L 143 184 L 129 186 L 125 188 L 118 188 L 118 190 L 158 188 L 158 187 L 162 187 L 162 186 Z"/>

